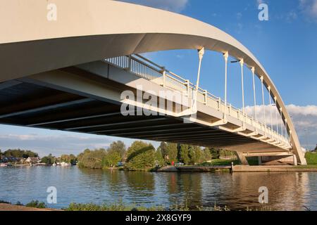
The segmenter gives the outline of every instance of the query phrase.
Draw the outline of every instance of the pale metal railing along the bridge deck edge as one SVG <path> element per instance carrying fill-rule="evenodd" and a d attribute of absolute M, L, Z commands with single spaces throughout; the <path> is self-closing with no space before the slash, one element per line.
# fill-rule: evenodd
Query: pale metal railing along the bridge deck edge
<path fill-rule="evenodd" d="M 106 63 L 116 66 L 117 68 L 128 70 L 138 77 L 147 79 L 167 89 L 187 92 L 188 96 L 190 96 L 193 91 L 196 90 L 196 86 L 192 84 L 192 82 L 189 82 L 188 79 L 184 79 L 179 75 L 166 70 L 166 68 L 163 66 L 158 65 L 138 54 L 133 56 L 107 58 L 105 61 Z M 268 127 L 262 122 L 255 120 L 254 117 L 250 117 L 246 114 L 243 115 L 242 110 L 233 107 L 229 103 L 225 104 L 223 100 L 214 96 L 209 91 L 199 87 L 197 91 L 197 101 L 212 108 L 216 108 L 221 113 L 226 113 L 227 115 L 235 117 L 245 124 L 250 124 L 251 126 L 255 127 L 257 131 L 263 131 L 263 133 L 266 134 L 268 138 L 271 138 L 273 141 L 278 141 L 278 143 L 282 143 L 283 147 L 285 148 L 290 148 L 290 142 L 287 140 L 287 138 L 285 138 L 285 136 L 278 134 L 278 132 L 272 130 L 271 127 Z"/>

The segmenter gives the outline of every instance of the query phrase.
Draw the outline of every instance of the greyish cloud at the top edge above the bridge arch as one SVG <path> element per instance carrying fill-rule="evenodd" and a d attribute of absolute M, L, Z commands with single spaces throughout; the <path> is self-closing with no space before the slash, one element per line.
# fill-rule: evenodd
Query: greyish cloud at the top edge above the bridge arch
<path fill-rule="evenodd" d="M 133 4 L 139 4 L 143 6 L 150 6 L 153 8 L 161 8 L 167 11 L 181 12 L 183 11 L 189 0 L 117 0 L 125 1 Z"/>

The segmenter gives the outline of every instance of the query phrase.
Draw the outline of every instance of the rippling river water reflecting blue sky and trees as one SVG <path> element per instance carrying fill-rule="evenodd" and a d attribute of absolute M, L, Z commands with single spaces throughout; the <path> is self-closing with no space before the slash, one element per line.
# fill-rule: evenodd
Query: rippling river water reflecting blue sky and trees
<path fill-rule="evenodd" d="M 274 210 L 317 210 L 317 173 L 164 173 L 124 172 L 77 167 L 2 167 L 0 200 L 46 202 L 46 189 L 57 188 L 57 204 L 135 203 L 143 206 L 184 204 L 259 208 L 259 187 L 268 188 Z"/>

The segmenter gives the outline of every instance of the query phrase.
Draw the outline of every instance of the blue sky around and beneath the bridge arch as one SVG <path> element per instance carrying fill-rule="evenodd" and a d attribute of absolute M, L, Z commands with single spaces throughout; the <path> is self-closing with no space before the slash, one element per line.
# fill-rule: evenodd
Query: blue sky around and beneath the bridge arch
<path fill-rule="evenodd" d="M 181 13 L 204 21 L 235 37 L 256 56 L 273 80 L 292 116 L 304 148 L 317 143 L 317 0 L 125 0 Z M 268 20 L 259 20 L 259 4 L 268 5 Z M 197 51 L 178 50 L 145 53 L 170 71 L 196 81 Z M 252 113 L 251 72 L 244 75 L 245 104 Z M 259 90 L 260 81 L 256 80 Z M 215 96 L 224 96 L 224 69 L 221 53 L 206 51 L 201 82 Z M 228 65 L 228 101 L 242 107 L 240 65 Z M 261 101 L 260 91 L 256 94 Z M 266 97 L 268 104 L 268 98 Z M 261 110 L 261 106 L 259 106 Z M 0 125 L 0 149 L 36 150 L 39 155 L 80 153 L 85 148 L 107 148 L 112 141 L 131 139 L 76 134 Z M 157 146 L 158 143 L 154 143 Z"/>

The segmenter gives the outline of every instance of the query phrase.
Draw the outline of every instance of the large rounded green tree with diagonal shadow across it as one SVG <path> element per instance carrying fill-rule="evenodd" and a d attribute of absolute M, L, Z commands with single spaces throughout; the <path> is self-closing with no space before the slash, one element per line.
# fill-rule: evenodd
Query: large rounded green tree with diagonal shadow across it
<path fill-rule="evenodd" d="M 148 170 L 155 166 L 155 149 L 151 144 L 135 141 L 128 148 L 128 158 L 125 164 L 130 170 Z"/>

